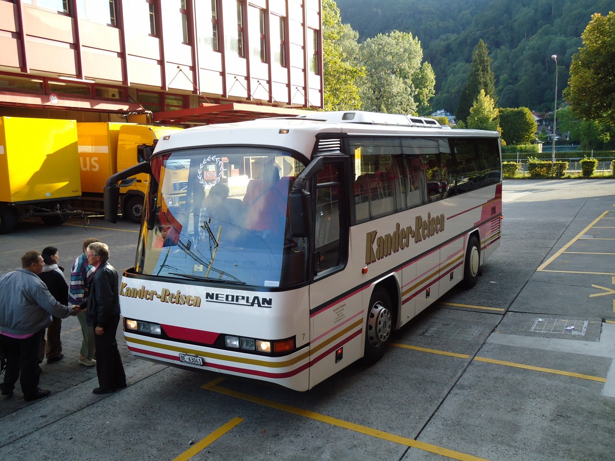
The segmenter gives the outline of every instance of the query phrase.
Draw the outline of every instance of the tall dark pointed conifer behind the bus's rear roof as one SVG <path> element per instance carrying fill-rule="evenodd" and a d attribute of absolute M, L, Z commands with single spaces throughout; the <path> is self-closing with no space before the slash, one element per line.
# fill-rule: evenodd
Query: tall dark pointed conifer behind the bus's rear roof
<path fill-rule="evenodd" d="M 472 53 L 470 76 L 459 97 L 459 105 L 455 112 L 457 120 L 467 119 L 470 114 L 470 107 L 478 97 L 480 90 L 484 90 L 485 95 L 491 97 L 494 103 L 498 101 L 496 97 L 496 77 L 491 71 L 491 58 L 488 57 L 488 54 L 487 45 L 480 39 Z"/>

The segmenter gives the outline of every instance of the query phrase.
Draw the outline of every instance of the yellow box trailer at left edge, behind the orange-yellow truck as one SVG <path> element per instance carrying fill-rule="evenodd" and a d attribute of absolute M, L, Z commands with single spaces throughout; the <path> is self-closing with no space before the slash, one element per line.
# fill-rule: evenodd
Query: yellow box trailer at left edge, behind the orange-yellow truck
<path fill-rule="evenodd" d="M 18 218 L 63 222 L 81 195 L 74 120 L 0 117 L 0 233 Z"/>

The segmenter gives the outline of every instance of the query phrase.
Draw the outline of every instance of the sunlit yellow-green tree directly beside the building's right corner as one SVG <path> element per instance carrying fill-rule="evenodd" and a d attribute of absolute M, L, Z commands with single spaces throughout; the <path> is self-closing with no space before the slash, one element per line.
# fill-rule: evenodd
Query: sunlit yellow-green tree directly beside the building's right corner
<path fill-rule="evenodd" d="M 350 26 L 342 24 L 335 1 L 323 0 L 322 62 L 327 111 L 361 108 L 358 82 L 365 76 L 365 67 L 357 62 L 358 37 Z"/>

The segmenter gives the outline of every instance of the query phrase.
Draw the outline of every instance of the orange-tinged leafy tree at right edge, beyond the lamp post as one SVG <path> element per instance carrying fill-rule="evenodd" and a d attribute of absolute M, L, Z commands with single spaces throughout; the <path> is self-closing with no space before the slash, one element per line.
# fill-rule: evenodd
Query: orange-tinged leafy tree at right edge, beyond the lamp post
<path fill-rule="evenodd" d="M 609 124 L 615 116 L 615 12 L 592 15 L 581 39 L 564 97 L 577 117 Z"/>

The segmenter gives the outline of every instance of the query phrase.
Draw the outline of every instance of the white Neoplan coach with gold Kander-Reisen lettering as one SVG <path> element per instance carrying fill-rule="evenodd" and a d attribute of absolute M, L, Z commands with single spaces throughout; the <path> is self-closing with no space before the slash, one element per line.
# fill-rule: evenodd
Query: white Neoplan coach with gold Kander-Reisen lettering
<path fill-rule="evenodd" d="M 477 282 L 501 237 L 499 135 L 371 112 L 189 128 L 149 162 L 120 302 L 134 355 L 308 390 Z"/>

